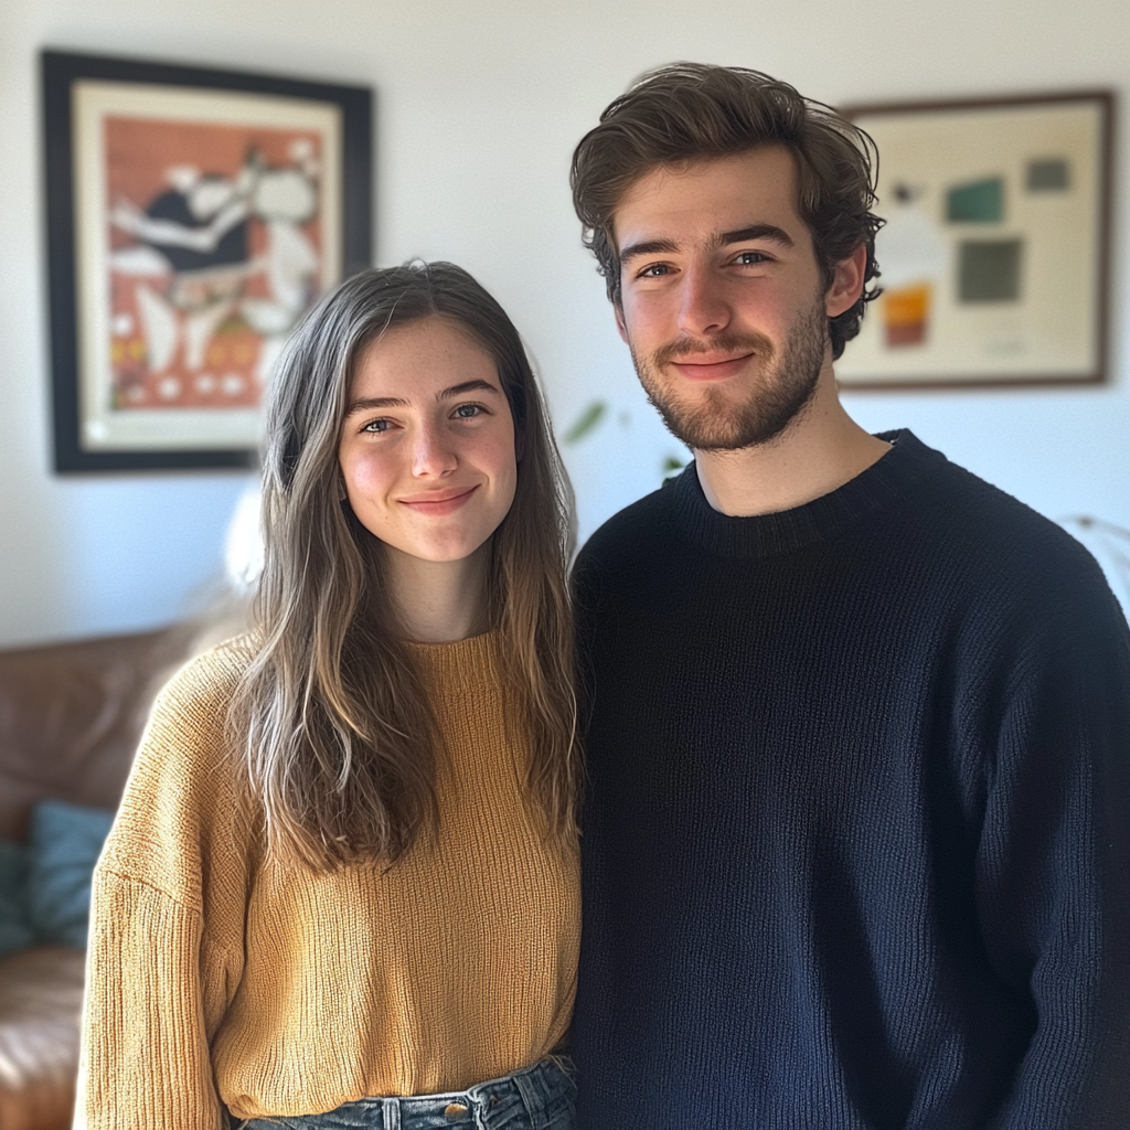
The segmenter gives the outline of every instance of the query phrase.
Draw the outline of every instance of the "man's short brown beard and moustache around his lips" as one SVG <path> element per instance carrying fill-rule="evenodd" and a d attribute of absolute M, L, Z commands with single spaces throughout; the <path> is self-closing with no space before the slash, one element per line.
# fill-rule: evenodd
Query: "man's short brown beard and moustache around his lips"
<path fill-rule="evenodd" d="M 816 392 L 828 340 L 823 297 L 790 329 L 780 353 L 760 333 L 727 334 L 703 341 L 681 339 L 632 360 L 647 399 L 659 410 L 668 431 L 697 451 L 734 451 L 776 438 L 796 420 Z M 679 357 L 703 353 L 751 353 L 760 372 L 745 403 L 731 403 L 722 389 L 702 386 L 698 402 L 686 403 L 662 377 Z M 676 381 L 681 379 L 676 377 Z"/>

